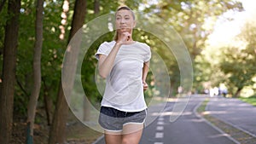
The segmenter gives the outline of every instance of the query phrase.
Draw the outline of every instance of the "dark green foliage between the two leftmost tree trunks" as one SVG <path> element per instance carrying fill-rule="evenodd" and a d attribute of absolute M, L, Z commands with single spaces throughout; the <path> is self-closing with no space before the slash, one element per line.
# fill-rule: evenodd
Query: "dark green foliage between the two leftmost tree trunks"
<path fill-rule="evenodd" d="M 20 8 L 19 47 L 17 52 L 15 112 L 26 113 L 32 88 L 32 55 L 35 42 L 34 2 L 22 1 Z"/>

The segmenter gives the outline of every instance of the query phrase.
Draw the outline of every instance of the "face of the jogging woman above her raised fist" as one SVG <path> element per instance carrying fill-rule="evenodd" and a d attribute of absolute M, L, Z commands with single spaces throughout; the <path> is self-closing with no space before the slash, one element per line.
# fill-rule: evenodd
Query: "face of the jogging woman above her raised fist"
<path fill-rule="evenodd" d="M 130 10 L 121 9 L 116 13 L 115 26 L 118 32 L 131 32 L 136 22 Z"/>

